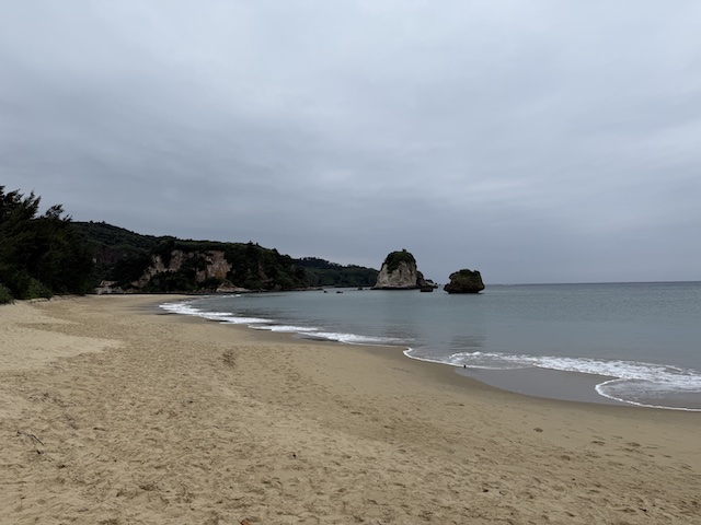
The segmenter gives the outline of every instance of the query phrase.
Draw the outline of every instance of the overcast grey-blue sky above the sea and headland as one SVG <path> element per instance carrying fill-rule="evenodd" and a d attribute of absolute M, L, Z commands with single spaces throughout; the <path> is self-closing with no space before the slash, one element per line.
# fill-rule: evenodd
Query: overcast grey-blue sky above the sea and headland
<path fill-rule="evenodd" d="M 438 283 L 701 280 L 698 0 L 0 0 L 0 186 Z"/>

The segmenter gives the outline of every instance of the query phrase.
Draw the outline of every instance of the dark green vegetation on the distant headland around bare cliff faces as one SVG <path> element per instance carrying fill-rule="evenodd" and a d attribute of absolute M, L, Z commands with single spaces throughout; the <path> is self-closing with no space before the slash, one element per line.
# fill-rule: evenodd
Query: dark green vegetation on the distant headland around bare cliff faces
<path fill-rule="evenodd" d="M 171 236 L 140 235 L 105 223 L 76 223 L 95 254 L 97 281 L 111 281 L 124 291 L 209 292 L 220 287 L 254 291 L 298 290 L 315 287 L 369 287 L 377 270 L 341 266 L 309 257 L 294 259 L 249 243 L 184 241 Z M 222 254 L 230 269 L 225 276 L 203 278 L 207 258 Z M 146 283 L 135 284 L 153 271 L 156 258 L 169 267 L 173 254 L 182 264 L 151 275 Z"/>

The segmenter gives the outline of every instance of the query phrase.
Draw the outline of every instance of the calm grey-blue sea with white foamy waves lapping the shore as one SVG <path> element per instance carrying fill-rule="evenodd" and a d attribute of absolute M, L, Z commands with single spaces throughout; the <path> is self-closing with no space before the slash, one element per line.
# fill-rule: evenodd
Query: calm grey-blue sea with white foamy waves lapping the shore
<path fill-rule="evenodd" d="M 701 411 L 701 282 L 489 285 L 476 295 L 327 289 L 161 307 L 298 337 L 399 346 L 409 358 L 525 394 L 577 399 L 565 390 L 584 378 L 591 389 L 584 400 Z"/>

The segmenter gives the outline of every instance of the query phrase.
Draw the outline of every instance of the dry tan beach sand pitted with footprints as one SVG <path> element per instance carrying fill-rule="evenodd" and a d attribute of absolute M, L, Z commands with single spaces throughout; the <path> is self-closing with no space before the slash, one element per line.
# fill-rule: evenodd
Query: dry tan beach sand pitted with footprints
<path fill-rule="evenodd" d="M 517 396 L 162 300 L 0 306 L 0 523 L 701 524 L 701 413 Z"/>

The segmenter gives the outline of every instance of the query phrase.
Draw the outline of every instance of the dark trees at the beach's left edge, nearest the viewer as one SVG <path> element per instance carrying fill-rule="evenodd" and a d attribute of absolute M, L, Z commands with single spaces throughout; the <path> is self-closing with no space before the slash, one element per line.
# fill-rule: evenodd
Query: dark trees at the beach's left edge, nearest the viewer
<path fill-rule="evenodd" d="M 0 186 L 0 303 L 82 294 L 91 285 L 91 253 L 60 205 L 38 214 L 41 197 Z"/>

